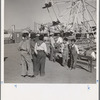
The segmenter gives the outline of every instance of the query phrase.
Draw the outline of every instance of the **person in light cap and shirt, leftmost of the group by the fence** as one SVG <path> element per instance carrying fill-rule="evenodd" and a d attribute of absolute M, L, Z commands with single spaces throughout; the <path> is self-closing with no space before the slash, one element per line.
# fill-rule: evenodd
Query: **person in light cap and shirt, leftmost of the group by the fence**
<path fill-rule="evenodd" d="M 55 40 L 54 33 L 50 33 L 50 60 L 55 61 Z"/>

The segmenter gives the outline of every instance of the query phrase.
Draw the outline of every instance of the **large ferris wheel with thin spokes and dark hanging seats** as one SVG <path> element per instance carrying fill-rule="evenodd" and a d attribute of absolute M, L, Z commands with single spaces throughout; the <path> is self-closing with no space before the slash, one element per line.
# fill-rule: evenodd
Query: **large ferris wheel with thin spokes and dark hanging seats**
<path fill-rule="evenodd" d="M 57 26 L 60 23 L 64 23 L 66 31 L 90 32 L 91 27 L 96 26 L 96 0 L 46 0 L 43 9 L 45 8 L 53 25 Z M 50 14 L 51 8 L 57 19 L 56 21 L 53 21 Z"/>

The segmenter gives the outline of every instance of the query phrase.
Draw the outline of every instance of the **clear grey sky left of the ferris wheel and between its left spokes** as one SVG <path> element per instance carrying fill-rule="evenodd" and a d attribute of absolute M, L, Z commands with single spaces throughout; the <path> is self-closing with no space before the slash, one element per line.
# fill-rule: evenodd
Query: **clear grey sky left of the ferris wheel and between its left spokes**
<path fill-rule="evenodd" d="M 10 29 L 15 25 L 16 29 L 30 27 L 33 29 L 34 22 L 47 23 L 51 22 L 50 16 L 46 9 L 42 9 L 47 0 L 5 0 L 4 3 L 4 28 Z M 48 0 L 50 1 L 50 0 Z M 68 0 L 53 0 L 53 1 L 68 1 Z M 94 1 L 94 0 L 88 0 Z M 57 13 L 64 12 L 68 4 L 59 4 L 59 9 L 55 5 L 54 9 Z M 90 8 L 91 9 L 91 8 Z M 53 10 L 50 8 L 50 15 L 53 20 L 56 20 Z M 62 19 L 61 19 L 62 20 Z"/>

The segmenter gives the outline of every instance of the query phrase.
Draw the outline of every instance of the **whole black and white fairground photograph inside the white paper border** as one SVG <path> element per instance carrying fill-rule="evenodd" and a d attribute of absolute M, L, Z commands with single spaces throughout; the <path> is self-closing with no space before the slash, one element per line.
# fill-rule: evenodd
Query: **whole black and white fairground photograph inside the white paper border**
<path fill-rule="evenodd" d="M 97 0 L 4 0 L 4 83 L 96 84 Z"/>

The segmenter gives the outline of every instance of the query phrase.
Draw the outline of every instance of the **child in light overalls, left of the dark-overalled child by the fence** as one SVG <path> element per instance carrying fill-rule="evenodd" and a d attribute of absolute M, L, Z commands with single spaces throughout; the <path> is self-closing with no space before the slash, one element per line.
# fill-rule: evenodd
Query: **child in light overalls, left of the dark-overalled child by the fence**
<path fill-rule="evenodd" d="M 64 38 L 63 44 L 62 44 L 62 65 L 65 66 L 68 64 L 68 58 L 69 58 L 69 50 L 68 50 L 68 39 Z"/>

